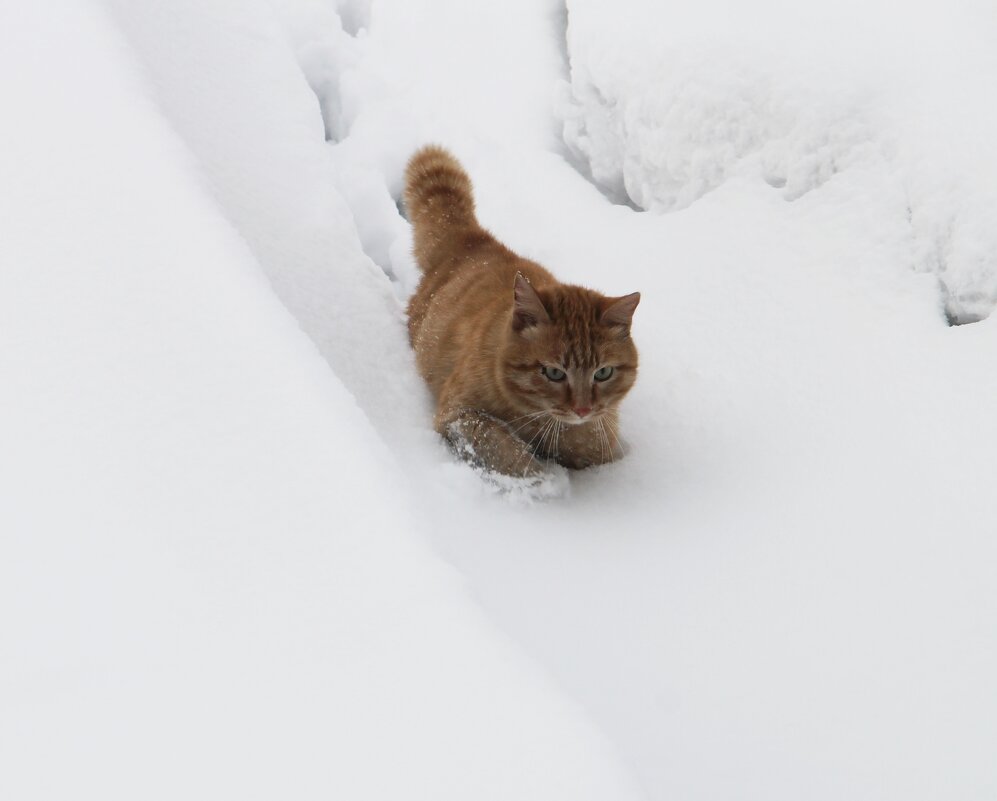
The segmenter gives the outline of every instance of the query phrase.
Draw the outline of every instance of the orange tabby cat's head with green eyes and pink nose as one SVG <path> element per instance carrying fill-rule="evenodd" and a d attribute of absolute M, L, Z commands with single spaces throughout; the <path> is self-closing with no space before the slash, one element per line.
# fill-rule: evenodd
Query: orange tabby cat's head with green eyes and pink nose
<path fill-rule="evenodd" d="M 630 322 L 640 293 L 608 298 L 582 287 L 534 289 L 522 274 L 510 297 L 504 386 L 524 411 L 563 423 L 597 420 L 637 378 Z"/>

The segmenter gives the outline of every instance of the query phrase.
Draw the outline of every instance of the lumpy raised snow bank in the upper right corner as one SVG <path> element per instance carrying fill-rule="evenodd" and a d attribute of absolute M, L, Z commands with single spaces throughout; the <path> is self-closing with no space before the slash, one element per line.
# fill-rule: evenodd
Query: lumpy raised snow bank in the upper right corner
<path fill-rule="evenodd" d="M 676 210 L 740 176 L 792 201 L 858 173 L 879 197 L 877 216 L 907 224 L 908 261 L 939 277 L 951 318 L 972 322 L 997 305 L 992 9 L 569 9 L 564 138 L 611 197 Z"/>

